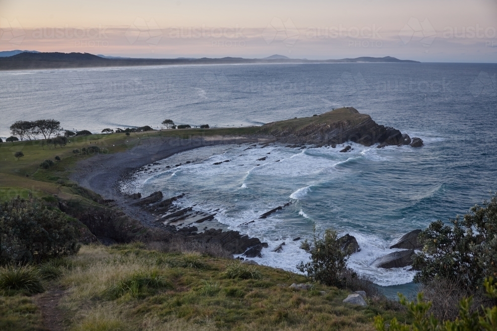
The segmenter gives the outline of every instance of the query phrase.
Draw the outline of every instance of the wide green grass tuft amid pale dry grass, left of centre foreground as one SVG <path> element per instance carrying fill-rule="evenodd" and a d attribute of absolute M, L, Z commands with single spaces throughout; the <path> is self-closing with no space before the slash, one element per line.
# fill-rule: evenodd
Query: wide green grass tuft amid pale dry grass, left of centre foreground
<path fill-rule="evenodd" d="M 102 292 L 102 296 L 109 300 L 114 300 L 125 295 L 138 297 L 147 288 L 172 287 L 166 278 L 159 275 L 157 270 L 145 273 L 135 272 L 119 278 L 113 285 Z"/>

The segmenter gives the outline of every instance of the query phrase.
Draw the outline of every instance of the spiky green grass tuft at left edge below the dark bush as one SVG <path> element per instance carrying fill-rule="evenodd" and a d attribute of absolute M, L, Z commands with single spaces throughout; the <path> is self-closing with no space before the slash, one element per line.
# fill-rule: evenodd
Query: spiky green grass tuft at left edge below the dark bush
<path fill-rule="evenodd" d="M 41 293 L 45 290 L 38 270 L 31 265 L 0 267 L 0 289 L 25 290 L 29 293 Z"/>

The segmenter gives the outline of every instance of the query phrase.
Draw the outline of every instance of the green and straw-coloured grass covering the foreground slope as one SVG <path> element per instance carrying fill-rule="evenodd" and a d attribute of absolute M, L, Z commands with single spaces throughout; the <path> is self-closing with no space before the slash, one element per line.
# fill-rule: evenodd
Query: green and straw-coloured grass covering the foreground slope
<path fill-rule="evenodd" d="M 379 314 L 406 321 L 403 311 L 393 310 L 395 305 L 387 301 L 369 302 L 367 307 L 343 304 L 346 290 L 315 284 L 309 291 L 292 291 L 290 284 L 306 279 L 283 270 L 255 266 L 260 277 L 230 278 L 236 277 L 226 272 L 233 260 L 196 253 L 162 253 L 139 243 L 89 245 L 68 260 L 71 268 L 47 284 L 65 289 L 59 308 L 67 330 L 367 331 L 374 330 L 373 317 Z M 148 281 L 138 280 L 135 287 L 133 279 Z M 29 318 L 18 330 L 40 328 L 30 298 L 0 300 L 18 302 L 17 308 L 1 314 L 0 323 L 15 320 L 20 307 L 28 305 Z"/>

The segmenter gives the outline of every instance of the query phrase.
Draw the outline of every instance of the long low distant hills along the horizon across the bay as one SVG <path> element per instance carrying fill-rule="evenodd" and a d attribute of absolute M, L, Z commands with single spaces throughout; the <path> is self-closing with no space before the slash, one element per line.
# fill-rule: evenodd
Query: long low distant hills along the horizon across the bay
<path fill-rule="evenodd" d="M 281 58 L 275 58 L 281 57 Z M 372 58 L 361 57 L 341 60 L 305 60 L 289 59 L 274 55 L 265 59 L 244 59 L 225 57 L 221 59 L 133 59 L 120 57 L 102 57 L 89 53 L 18 53 L 13 56 L 0 58 L 0 70 L 22 69 L 57 69 L 77 67 L 108 67 L 108 66 L 164 66 L 164 65 L 211 65 L 211 64 L 271 64 L 271 63 L 415 63 L 411 60 L 399 60 L 393 57 Z"/>

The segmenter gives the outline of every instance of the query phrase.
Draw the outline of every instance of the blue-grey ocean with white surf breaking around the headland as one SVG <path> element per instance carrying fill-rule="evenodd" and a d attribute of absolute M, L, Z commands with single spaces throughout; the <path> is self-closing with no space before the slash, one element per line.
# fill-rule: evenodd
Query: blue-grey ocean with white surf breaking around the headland
<path fill-rule="evenodd" d="M 14 121 L 41 118 L 100 132 L 159 128 L 164 119 L 257 126 L 354 107 L 425 145 L 352 144 L 349 153 L 339 153 L 340 146 L 202 147 L 182 156 L 196 162 L 168 169 L 166 159 L 154 166 L 157 172 L 138 174 L 135 189 L 186 193 L 180 203 L 220 208 L 218 221 L 268 242 L 257 262 L 288 270 L 308 258 L 295 237 L 310 238 L 314 227 L 349 233 L 361 252 L 348 265 L 381 286 L 401 285 L 412 281 L 409 267 L 379 269 L 371 262 L 403 234 L 466 213 L 497 190 L 496 72 L 496 64 L 430 63 L 1 71 L 0 136 L 10 135 Z M 283 252 L 271 252 L 283 241 Z"/>

